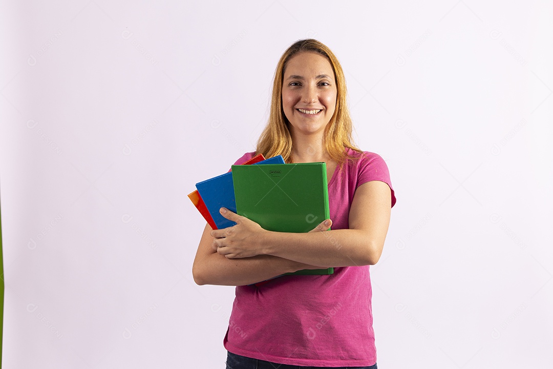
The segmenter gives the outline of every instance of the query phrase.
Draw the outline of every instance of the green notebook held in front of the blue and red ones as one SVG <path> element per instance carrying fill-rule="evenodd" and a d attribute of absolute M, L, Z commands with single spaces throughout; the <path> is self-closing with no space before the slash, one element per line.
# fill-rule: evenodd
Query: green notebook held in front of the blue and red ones
<path fill-rule="evenodd" d="M 330 218 L 325 163 L 232 165 L 239 215 L 264 229 L 309 232 Z M 287 274 L 332 274 L 333 268 Z"/>

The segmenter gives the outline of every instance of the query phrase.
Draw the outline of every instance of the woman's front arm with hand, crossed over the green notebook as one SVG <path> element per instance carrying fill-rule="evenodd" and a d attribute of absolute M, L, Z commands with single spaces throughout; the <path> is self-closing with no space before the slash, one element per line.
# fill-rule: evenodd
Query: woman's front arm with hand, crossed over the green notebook
<path fill-rule="evenodd" d="M 382 254 L 390 223 L 391 191 L 382 181 L 359 186 L 349 210 L 349 229 L 316 233 L 283 233 L 263 230 L 233 212 L 226 217 L 234 227 L 212 231 L 218 253 L 232 260 L 276 256 L 321 267 L 375 264 Z"/>

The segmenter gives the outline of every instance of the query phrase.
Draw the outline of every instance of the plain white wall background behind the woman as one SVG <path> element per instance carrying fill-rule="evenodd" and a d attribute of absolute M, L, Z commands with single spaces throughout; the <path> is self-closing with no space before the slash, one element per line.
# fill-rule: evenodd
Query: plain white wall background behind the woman
<path fill-rule="evenodd" d="M 550 367 L 552 19 L 549 0 L 3 1 L 3 367 L 224 367 L 234 289 L 192 280 L 186 195 L 254 150 L 307 37 L 398 197 L 379 367 Z"/>

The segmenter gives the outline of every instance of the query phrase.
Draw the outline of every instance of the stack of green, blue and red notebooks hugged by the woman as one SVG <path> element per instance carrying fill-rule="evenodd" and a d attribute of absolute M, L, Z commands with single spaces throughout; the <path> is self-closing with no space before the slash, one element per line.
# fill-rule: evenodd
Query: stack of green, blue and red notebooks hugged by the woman
<path fill-rule="evenodd" d="M 325 163 L 284 164 L 280 155 L 270 159 L 257 155 L 232 165 L 228 173 L 197 183 L 196 189 L 188 197 L 213 229 L 236 224 L 220 214 L 221 207 L 277 232 L 309 232 L 330 217 Z M 327 268 L 288 274 L 333 272 Z"/>

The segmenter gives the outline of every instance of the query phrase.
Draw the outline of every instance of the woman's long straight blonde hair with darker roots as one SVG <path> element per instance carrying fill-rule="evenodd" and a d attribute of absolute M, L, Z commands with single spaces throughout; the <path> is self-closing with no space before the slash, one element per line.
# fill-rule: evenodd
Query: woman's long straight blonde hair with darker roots
<path fill-rule="evenodd" d="M 291 161 L 293 143 L 289 122 L 282 107 L 282 85 L 288 61 L 302 52 L 325 56 L 334 71 L 337 87 L 336 109 L 325 128 L 325 148 L 328 155 L 341 166 L 348 158 L 345 148 L 361 152 L 352 140 L 352 121 L 346 100 L 346 79 L 336 55 L 326 45 L 314 39 L 296 41 L 280 57 L 274 75 L 269 122 L 259 137 L 256 153 L 263 154 L 266 158 L 282 155 L 286 163 Z"/>

